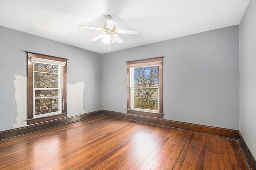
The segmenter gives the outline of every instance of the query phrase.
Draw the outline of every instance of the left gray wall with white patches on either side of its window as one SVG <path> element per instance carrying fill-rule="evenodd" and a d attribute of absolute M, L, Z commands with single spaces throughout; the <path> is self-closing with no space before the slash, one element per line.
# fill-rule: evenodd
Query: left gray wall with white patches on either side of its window
<path fill-rule="evenodd" d="M 26 125 L 27 59 L 24 51 L 69 59 L 67 100 L 81 109 L 77 113 L 67 108 L 68 116 L 101 109 L 100 54 L 0 26 L 0 131 Z M 24 87 L 15 87 L 15 83 Z M 82 96 L 78 99 L 70 91 Z M 74 100 L 70 100 L 72 98 Z"/>

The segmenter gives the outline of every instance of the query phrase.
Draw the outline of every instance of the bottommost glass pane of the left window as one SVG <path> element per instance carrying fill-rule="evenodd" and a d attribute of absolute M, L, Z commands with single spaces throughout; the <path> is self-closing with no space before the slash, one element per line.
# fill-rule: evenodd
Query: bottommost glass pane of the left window
<path fill-rule="evenodd" d="M 59 109 L 58 109 L 58 98 L 57 97 L 36 99 L 35 115 L 56 112 L 58 110 Z"/>

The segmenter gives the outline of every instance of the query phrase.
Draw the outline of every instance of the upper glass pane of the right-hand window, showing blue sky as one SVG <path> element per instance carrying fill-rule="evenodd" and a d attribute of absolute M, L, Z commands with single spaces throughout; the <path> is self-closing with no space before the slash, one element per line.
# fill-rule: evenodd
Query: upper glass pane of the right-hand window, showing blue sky
<path fill-rule="evenodd" d="M 134 87 L 158 87 L 158 66 L 134 68 Z"/>

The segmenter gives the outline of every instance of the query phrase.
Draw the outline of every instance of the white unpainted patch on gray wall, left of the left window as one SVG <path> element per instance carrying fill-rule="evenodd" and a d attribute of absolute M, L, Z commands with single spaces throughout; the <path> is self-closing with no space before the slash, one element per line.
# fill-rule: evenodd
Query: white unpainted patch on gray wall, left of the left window
<path fill-rule="evenodd" d="M 26 126 L 27 119 L 27 78 L 22 75 L 15 75 L 13 81 L 15 87 L 15 100 L 18 105 L 18 116 L 16 117 L 17 124 L 12 128 L 19 128 Z"/>

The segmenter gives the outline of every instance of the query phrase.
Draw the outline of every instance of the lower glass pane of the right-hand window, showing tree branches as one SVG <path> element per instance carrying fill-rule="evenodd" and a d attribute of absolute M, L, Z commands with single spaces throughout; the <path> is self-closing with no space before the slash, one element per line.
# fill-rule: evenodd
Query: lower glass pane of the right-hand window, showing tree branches
<path fill-rule="evenodd" d="M 158 89 L 134 89 L 134 108 L 158 110 Z"/>

